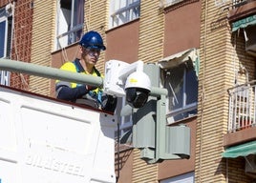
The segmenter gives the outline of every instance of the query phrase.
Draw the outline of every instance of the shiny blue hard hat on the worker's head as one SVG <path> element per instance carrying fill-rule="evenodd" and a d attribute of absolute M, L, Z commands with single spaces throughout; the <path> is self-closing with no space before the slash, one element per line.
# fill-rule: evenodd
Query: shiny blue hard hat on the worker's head
<path fill-rule="evenodd" d="M 101 51 L 106 50 L 106 47 L 103 44 L 103 39 L 101 35 L 98 32 L 93 30 L 86 32 L 82 36 L 79 44 L 82 47 L 88 48 L 88 49 L 98 49 Z"/>

